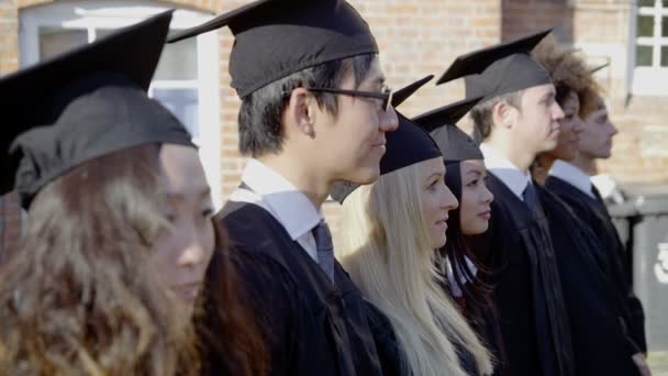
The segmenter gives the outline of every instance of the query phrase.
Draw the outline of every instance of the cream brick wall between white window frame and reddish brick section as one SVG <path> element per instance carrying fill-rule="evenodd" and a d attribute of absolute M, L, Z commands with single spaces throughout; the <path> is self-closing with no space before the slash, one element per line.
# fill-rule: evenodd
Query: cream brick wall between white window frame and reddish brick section
<path fill-rule="evenodd" d="M 233 9 L 249 1 L 230 1 Z M 465 52 L 498 43 L 501 37 L 499 0 L 352 0 L 350 3 L 368 21 L 378 41 L 383 71 L 393 88 L 428 74 L 438 77 L 453 59 Z M 240 181 L 245 158 L 237 152 L 236 114 L 240 100 L 230 88 L 227 56 L 233 37 L 221 30 L 221 123 L 222 123 L 222 190 L 229 195 Z M 461 85 L 421 89 L 401 107 L 409 115 L 460 99 Z M 325 217 L 336 231 L 338 206 L 326 203 Z"/>

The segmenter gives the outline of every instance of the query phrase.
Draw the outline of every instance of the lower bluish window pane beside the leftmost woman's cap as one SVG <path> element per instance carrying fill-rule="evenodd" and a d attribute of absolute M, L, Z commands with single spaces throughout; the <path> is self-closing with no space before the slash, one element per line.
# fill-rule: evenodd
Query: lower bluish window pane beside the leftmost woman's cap
<path fill-rule="evenodd" d="M 153 98 L 168 108 L 186 125 L 192 139 L 199 137 L 197 89 L 154 89 Z"/>

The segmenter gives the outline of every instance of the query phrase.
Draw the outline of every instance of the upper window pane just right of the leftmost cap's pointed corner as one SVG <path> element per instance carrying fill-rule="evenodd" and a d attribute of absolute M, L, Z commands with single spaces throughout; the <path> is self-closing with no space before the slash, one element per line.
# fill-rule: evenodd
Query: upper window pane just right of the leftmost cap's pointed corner
<path fill-rule="evenodd" d="M 166 44 L 155 79 L 197 79 L 197 38 Z"/>

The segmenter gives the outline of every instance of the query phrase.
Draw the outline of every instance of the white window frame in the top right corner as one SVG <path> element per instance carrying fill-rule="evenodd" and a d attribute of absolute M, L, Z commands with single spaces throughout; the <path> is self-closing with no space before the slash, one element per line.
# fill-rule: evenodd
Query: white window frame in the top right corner
<path fill-rule="evenodd" d="M 631 25 L 631 66 L 633 67 L 633 81 L 631 91 L 641 96 L 668 96 L 668 86 L 661 82 L 668 81 L 668 67 L 661 67 L 661 46 L 668 47 L 668 37 L 661 36 L 661 16 L 668 18 L 668 0 L 655 0 L 654 7 L 639 7 L 634 1 Z M 654 35 L 637 36 L 638 15 L 654 15 Z M 636 66 L 636 46 L 653 47 L 653 63 L 650 67 Z"/>

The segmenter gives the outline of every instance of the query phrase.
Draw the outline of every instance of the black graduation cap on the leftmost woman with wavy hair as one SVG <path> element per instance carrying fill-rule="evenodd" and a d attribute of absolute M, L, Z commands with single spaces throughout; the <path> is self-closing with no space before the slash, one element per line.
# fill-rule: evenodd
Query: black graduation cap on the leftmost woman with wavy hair
<path fill-rule="evenodd" d="M 171 11 L 0 79 L 0 193 L 27 209 L 77 165 L 148 143 L 194 146 L 183 125 L 146 90 Z"/>

